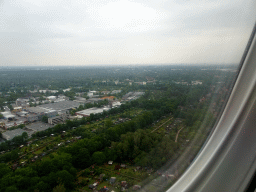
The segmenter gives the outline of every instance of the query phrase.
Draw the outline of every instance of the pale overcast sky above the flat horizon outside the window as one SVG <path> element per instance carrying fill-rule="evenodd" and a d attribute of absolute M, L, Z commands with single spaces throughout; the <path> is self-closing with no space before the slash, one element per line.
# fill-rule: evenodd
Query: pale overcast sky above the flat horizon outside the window
<path fill-rule="evenodd" d="M 0 66 L 238 63 L 255 0 L 0 0 Z"/>

